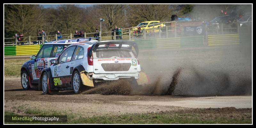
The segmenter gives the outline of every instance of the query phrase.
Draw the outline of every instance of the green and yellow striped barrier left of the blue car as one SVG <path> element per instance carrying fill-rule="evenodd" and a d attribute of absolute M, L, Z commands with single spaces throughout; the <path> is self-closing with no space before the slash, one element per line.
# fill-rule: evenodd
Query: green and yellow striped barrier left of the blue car
<path fill-rule="evenodd" d="M 42 47 L 42 44 L 4 46 L 4 55 L 36 55 L 41 47 Z"/>

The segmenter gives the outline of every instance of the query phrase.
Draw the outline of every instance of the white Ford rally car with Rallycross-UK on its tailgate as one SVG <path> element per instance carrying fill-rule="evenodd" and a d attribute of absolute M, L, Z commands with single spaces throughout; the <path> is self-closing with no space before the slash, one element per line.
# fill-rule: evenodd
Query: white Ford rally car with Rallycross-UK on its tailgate
<path fill-rule="evenodd" d="M 69 45 L 52 65 L 42 71 L 39 87 L 44 94 L 74 90 L 80 93 L 95 82 L 125 78 L 137 85 L 148 83 L 138 61 L 139 49 L 133 41 L 99 41 Z"/>

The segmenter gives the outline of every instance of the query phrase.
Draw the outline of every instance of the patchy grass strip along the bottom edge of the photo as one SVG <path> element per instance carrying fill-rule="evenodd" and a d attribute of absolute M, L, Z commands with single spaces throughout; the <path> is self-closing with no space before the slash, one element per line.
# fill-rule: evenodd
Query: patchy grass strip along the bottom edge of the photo
<path fill-rule="evenodd" d="M 82 114 L 70 114 L 66 111 L 41 111 L 29 108 L 25 110 L 25 113 L 29 115 L 68 115 L 68 122 L 63 124 L 252 124 L 252 119 L 250 118 L 216 117 L 202 119 L 202 117 L 197 114 L 177 114 L 172 112 L 83 117 Z M 17 115 L 9 111 L 4 111 L 4 114 Z M 207 115 L 207 113 L 204 115 Z M 43 124 L 37 122 L 34 123 Z"/>

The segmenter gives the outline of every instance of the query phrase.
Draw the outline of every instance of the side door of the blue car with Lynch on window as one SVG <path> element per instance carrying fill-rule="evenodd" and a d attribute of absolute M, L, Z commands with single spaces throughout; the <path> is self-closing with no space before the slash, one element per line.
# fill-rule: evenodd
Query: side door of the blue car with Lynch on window
<path fill-rule="evenodd" d="M 53 44 L 43 45 L 40 51 L 36 55 L 36 60 L 31 62 L 29 70 L 31 70 L 31 76 L 33 80 L 39 79 L 41 72 L 44 68 L 48 67 L 48 59 L 52 52 Z"/>

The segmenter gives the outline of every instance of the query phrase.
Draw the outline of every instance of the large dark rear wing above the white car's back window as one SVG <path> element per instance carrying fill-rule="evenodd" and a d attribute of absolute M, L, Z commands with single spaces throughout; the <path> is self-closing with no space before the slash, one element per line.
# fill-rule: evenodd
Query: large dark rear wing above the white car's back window
<path fill-rule="evenodd" d="M 138 57 L 138 54 L 139 54 L 138 45 L 134 41 L 127 41 L 127 40 L 99 41 L 99 42 L 92 45 L 92 48 L 88 52 L 89 57 L 92 56 L 92 51 L 96 51 L 99 48 L 100 45 L 104 45 L 104 44 L 105 44 L 104 49 L 108 49 L 110 44 L 112 44 L 112 45 L 113 44 L 118 44 L 118 47 L 111 47 L 111 48 L 118 48 L 118 49 L 123 49 L 124 48 L 124 47 L 122 47 L 123 44 L 129 45 L 129 49 L 132 49 L 132 46 L 133 46 L 135 51 L 136 51 L 136 56 Z"/>

